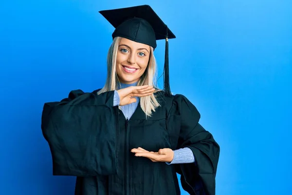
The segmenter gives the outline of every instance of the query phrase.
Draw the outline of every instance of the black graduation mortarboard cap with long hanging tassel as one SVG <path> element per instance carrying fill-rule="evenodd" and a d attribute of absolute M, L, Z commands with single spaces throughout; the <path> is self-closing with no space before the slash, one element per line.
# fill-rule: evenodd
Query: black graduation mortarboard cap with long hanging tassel
<path fill-rule="evenodd" d="M 123 37 L 156 48 L 156 40 L 165 39 L 164 91 L 171 96 L 169 86 L 168 39 L 176 38 L 149 5 L 99 11 L 115 28 L 112 38 Z"/>

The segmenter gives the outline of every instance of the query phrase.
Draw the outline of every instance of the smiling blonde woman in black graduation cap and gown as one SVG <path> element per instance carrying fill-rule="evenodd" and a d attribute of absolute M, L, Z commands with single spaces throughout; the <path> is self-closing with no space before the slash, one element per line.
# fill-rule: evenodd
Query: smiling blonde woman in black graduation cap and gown
<path fill-rule="evenodd" d="M 168 38 L 150 6 L 100 12 L 116 28 L 105 86 L 45 103 L 42 132 L 53 175 L 76 176 L 75 195 L 215 195 L 219 145 L 183 95 L 172 95 Z M 166 38 L 164 90 L 153 87 L 156 40 Z"/>

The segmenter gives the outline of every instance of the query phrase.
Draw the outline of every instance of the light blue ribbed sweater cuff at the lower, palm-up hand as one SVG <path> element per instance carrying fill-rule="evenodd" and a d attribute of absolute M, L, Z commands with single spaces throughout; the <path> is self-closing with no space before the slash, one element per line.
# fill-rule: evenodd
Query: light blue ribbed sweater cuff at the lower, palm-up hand
<path fill-rule="evenodd" d="M 174 156 L 171 162 L 166 162 L 166 164 L 179 164 L 179 163 L 193 163 L 195 162 L 195 156 L 191 149 L 181 148 L 173 151 Z"/>

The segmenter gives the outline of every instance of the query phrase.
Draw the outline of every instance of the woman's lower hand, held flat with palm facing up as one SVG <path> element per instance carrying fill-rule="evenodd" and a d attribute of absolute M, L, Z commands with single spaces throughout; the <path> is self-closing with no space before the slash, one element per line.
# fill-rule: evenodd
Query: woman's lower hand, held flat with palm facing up
<path fill-rule="evenodd" d="M 174 157 L 174 152 L 170 148 L 160 149 L 158 152 L 149 152 L 143 148 L 133 148 L 132 153 L 135 153 L 135 156 L 147 157 L 153 162 L 171 162 Z"/>

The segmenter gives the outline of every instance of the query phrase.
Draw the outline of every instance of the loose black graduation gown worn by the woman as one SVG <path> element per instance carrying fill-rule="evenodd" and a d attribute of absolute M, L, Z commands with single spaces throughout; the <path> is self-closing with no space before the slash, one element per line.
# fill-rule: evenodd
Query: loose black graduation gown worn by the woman
<path fill-rule="evenodd" d="M 113 106 L 114 91 L 71 91 L 47 102 L 41 129 L 48 141 L 53 175 L 76 176 L 75 195 L 180 195 L 176 173 L 190 195 L 215 195 L 219 145 L 199 123 L 200 113 L 183 95 L 156 93 L 161 106 L 146 119 L 140 103 L 130 119 Z M 189 147 L 195 163 L 152 162 L 148 151 Z"/>

